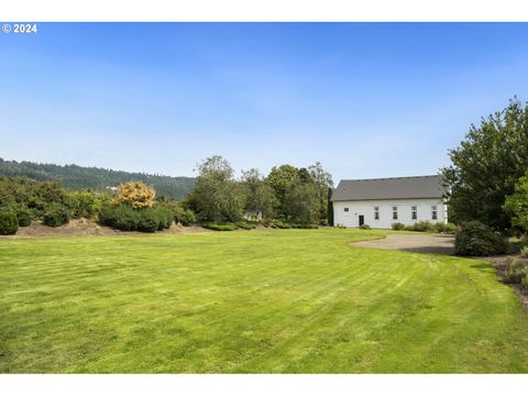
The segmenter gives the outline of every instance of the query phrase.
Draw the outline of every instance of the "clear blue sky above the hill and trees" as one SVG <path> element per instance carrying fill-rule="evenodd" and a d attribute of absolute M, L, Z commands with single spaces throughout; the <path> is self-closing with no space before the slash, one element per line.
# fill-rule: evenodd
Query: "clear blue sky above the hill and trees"
<path fill-rule="evenodd" d="M 528 100 L 528 24 L 41 23 L 0 54 L 0 157 L 172 176 L 435 174 Z"/>

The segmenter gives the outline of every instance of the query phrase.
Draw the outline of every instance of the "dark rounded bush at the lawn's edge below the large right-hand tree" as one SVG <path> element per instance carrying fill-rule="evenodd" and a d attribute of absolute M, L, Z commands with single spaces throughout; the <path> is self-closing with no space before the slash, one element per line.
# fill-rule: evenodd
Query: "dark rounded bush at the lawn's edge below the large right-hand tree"
<path fill-rule="evenodd" d="M 490 227 L 479 221 L 470 221 L 457 234 L 454 250 L 459 255 L 495 255 L 507 251 L 507 242 Z"/>

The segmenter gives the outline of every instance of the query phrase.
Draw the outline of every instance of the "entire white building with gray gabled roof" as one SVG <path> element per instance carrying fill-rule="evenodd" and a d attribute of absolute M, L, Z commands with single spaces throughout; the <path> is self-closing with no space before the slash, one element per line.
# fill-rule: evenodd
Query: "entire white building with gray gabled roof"
<path fill-rule="evenodd" d="M 441 176 L 341 180 L 333 190 L 333 223 L 389 229 L 395 222 L 448 222 Z"/>

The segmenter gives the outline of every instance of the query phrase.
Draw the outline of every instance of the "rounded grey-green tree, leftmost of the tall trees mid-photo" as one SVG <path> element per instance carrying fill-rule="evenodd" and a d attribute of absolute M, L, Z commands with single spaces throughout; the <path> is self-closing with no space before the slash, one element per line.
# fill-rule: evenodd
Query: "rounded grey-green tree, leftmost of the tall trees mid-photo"
<path fill-rule="evenodd" d="M 234 180 L 230 163 L 219 155 L 204 160 L 197 166 L 199 176 L 187 205 L 206 221 L 238 221 L 244 215 L 245 195 Z"/>

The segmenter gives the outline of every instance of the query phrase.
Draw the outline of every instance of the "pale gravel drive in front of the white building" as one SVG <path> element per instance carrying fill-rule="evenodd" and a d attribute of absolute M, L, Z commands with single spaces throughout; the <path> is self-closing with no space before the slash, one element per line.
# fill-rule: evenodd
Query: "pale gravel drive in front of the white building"
<path fill-rule="evenodd" d="M 454 253 L 454 237 L 428 233 L 388 234 L 385 239 L 351 243 L 354 246 L 403 250 L 422 253 Z"/>

